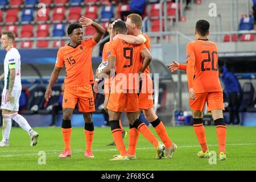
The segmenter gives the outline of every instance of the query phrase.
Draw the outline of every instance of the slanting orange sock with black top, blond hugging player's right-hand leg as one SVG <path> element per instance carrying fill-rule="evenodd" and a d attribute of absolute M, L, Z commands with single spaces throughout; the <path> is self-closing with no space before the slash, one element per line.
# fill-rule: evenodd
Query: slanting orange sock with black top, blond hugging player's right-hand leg
<path fill-rule="evenodd" d="M 163 122 L 161 122 L 160 119 L 157 118 L 155 121 L 151 122 L 151 125 L 154 127 L 156 133 L 158 134 L 166 148 L 170 148 L 172 146 L 172 141 L 168 137 L 166 127 L 164 127 Z"/>

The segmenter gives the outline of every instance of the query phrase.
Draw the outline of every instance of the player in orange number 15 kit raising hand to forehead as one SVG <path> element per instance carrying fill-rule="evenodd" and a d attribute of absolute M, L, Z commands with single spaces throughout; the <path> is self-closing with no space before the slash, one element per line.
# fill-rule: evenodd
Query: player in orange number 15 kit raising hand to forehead
<path fill-rule="evenodd" d="M 82 40 L 82 26 L 92 26 L 95 28 L 96 33 L 92 38 Z M 67 32 L 69 38 L 71 38 L 71 42 L 68 46 L 61 47 L 57 52 L 55 68 L 53 69 L 45 97 L 47 101 L 51 97 L 51 88 L 57 80 L 61 68 L 65 65 L 66 77 L 64 80 L 63 122 L 61 125 L 65 150 L 59 155 L 59 158 L 67 158 L 72 154 L 70 148 L 72 130 L 71 117 L 77 102 L 79 104 L 79 111 L 82 112 L 85 120 L 85 157 L 94 157 L 92 154 L 94 135 L 92 112 L 95 110 L 91 85 L 94 81 L 92 51 L 93 47 L 100 41 L 104 31 L 104 28 L 96 22 L 81 17 L 80 24 L 74 23 L 68 27 Z"/>

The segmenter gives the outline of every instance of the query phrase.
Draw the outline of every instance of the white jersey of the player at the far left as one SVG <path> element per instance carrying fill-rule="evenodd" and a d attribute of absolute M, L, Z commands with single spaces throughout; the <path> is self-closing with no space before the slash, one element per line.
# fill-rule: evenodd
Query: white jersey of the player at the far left
<path fill-rule="evenodd" d="M 16 49 L 15 47 L 11 47 L 7 51 L 5 55 L 5 62 L 3 63 L 4 70 L 5 70 L 5 89 L 7 90 L 9 89 L 9 81 L 10 81 L 9 64 L 12 64 L 12 65 L 15 64 L 16 76 L 15 76 L 13 90 L 22 90 L 21 79 L 20 79 L 20 54 L 18 49 Z"/>

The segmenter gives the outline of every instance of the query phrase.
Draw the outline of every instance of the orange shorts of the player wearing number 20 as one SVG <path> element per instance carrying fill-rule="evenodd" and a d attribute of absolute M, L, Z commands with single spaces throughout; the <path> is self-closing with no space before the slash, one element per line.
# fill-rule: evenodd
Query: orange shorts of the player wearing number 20
<path fill-rule="evenodd" d="M 196 99 L 190 99 L 190 107 L 192 110 L 204 111 L 205 102 L 207 102 L 207 110 L 224 109 L 223 92 L 205 92 L 196 93 Z"/>

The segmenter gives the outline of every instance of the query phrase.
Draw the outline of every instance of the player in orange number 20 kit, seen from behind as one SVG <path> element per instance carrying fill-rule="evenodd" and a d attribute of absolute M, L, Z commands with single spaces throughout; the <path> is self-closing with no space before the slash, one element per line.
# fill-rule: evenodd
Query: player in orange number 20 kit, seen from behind
<path fill-rule="evenodd" d="M 214 42 L 207 39 L 209 27 L 210 24 L 206 20 L 199 20 L 196 23 L 196 41 L 187 45 L 187 66 L 179 65 L 174 61 L 169 68 L 172 72 L 177 68 L 187 71 L 193 127 L 202 148 L 197 155 L 200 158 L 210 156 L 202 122 L 203 110 L 207 102 L 208 111 L 212 113 L 216 125 L 219 159 L 225 160 L 226 125 L 222 113 L 223 93 L 218 78 L 218 48 Z"/>

